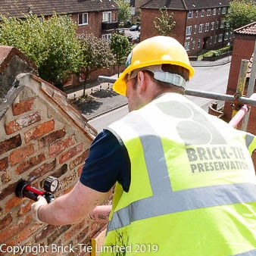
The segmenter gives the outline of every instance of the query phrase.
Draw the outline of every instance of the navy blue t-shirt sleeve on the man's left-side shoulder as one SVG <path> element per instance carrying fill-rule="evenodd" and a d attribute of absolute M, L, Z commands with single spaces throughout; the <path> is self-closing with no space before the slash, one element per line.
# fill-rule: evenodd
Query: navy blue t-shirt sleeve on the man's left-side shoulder
<path fill-rule="evenodd" d="M 130 158 L 126 147 L 109 130 L 103 130 L 92 142 L 80 182 L 98 192 L 108 192 L 116 182 L 128 192 Z"/>

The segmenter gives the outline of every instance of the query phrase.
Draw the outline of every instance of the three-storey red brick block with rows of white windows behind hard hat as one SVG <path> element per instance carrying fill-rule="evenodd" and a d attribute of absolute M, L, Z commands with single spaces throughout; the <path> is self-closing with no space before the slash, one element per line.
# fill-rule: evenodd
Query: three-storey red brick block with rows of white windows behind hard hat
<path fill-rule="evenodd" d="M 173 37 L 184 45 L 189 56 L 228 45 L 232 33 L 225 29 L 222 19 L 227 14 L 229 2 L 151 0 L 140 7 L 141 40 L 158 35 L 153 21 L 160 16 L 159 9 L 166 7 L 176 21 Z"/>

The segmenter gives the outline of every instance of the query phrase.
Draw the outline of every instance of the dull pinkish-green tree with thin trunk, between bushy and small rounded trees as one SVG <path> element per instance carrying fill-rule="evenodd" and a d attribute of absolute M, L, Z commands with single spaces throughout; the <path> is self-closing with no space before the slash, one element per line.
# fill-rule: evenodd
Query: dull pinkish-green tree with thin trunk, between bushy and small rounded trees
<path fill-rule="evenodd" d="M 98 68 L 110 67 L 114 64 L 114 55 L 110 43 L 105 39 L 98 39 L 93 34 L 79 34 L 80 47 L 83 52 L 80 62 L 80 73 L 84 73 L 83 97 L 86 95 L 86 81 L 89 74 Z"/>

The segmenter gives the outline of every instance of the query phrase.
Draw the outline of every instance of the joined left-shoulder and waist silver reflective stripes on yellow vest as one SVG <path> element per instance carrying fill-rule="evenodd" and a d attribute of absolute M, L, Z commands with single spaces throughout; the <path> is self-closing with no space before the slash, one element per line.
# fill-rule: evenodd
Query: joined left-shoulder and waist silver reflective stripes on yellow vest
<path fill-rule="evenodd" d="M 131 116 L 126 117 L 126 125 L 133 126 L 136 133 L 139 133 L 153 195 L 134 201 L 119 211 L 114 211 L 108 223 L 108 232 L 127 226 L 136 220 L 164 214 L 256 201 L 256 186 L 250 183 L 206 186 L 173 192 L 161 138 L 148 122 L 142 120 L 142 116 L 135 113 Z M 140 122 L 134 122 L 136 116 Z M 147 125 L 141 125 L 143 122 Z M 205 123 L 207 120 L 204 120 Z M 212 126 L 212 123 L 208 122 L 207 125 Z M 219 133 L 214 128 L 211 130 L 215 135 Z M 223 139 L 220 140 L 226 144 Z"/>

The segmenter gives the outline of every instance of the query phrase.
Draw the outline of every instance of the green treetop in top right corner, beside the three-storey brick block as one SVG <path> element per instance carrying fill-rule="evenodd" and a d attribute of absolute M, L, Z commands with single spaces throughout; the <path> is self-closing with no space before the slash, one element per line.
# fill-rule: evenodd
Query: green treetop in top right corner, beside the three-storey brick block
<path fill-rule="evenodd" d="M 256 20 L 255 1 L 233 0 L 229 4 L 229 13 L 224 21 L 233 30 L 243 27 Z"/>

